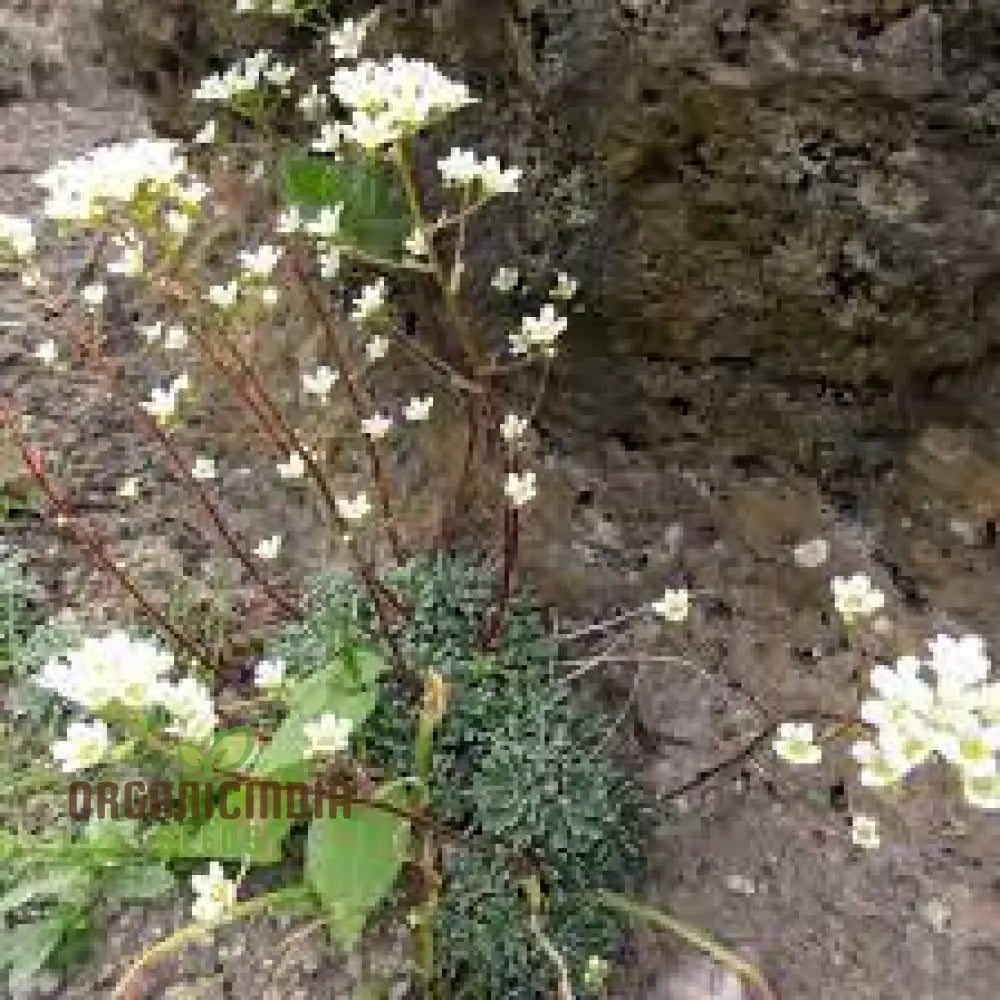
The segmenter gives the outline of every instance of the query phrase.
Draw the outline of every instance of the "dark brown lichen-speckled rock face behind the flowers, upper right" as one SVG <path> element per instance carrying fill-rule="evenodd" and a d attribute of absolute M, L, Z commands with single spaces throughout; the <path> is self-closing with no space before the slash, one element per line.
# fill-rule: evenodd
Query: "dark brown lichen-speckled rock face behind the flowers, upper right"
<path fill-rule="evenodd" d="M 107 6 L 137 12 L 124 34 L 114 18 L 115 47 L 164 100 L 233 37 L 191 5 Z M 481 140 L 527 168 L 513 233 L 483 225 L 478 256 L 572 267 L 613 336 L 894 385 L 1000 346 L 995 5 L 385 8 L 383 42 L 485 97 L 433 141 Z"/>

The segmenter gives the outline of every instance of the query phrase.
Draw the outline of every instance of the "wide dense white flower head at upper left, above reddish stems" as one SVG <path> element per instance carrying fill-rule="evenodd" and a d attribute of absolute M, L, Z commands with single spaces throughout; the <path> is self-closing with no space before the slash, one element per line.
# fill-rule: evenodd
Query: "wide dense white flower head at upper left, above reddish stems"
<path fill-rule="evenodd" d="M 143 192 L 189 202 L 197 191 L 181 185 L 187 165 L 177 147 L 172 139 L 137 139 L 60 160 L 35 178 L 48 195 L 45 216 L 60 222 L 95 222 L 111 205 L 128 205 Z"/>

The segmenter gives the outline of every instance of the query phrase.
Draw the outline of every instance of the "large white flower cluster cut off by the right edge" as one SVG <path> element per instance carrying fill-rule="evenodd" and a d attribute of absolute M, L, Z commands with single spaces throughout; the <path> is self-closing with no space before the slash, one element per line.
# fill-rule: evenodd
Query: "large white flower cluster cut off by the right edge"
<path fill-rule="evenodd" d="M 957 768 L 966 800 L 1000 808 L 1000 684 L 980 636 L 938 635 L 930 656 L 901 656 L 871 673 L 876 697 L 861 706 L 875 737 L 855 743 L 861 783 L 887 787 L 935 754 Z"/>

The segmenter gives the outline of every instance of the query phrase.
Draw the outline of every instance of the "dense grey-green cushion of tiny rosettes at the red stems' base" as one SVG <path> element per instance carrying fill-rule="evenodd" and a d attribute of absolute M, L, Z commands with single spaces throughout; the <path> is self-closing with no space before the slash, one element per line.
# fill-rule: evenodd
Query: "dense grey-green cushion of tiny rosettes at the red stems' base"
<path fill-rule="evenodd" d="M 607 721 L 586 714 L 554 681 L 555 643 L 530 596 L 512 597 L 495 655 L 481 649 L 496 575 L 470 558 L 420 557 L 386 574 L 412 607 L 396 639 L 408 666 L 433 670 L 451 692 L 436 733 L 430 808 L 442 824 L 501 851 L 442 846 L 435 976 L 456 997 L 551 995 L 552 968 L 526 919 L 522 877 L 538 876 L 549 939 L 574 982 L 590 956 L 612 954 L 622 928 L 592 894 L 634 888 L 647 810 L 603 752 Z M 346 645 L 379 641 L 377 610 L 353 578 L 314 584 L 309 613 L 275 652 L 312 670 Z M 419 712 L 387 676 L 358 734 L 367 759 L 413 774 Z"/>

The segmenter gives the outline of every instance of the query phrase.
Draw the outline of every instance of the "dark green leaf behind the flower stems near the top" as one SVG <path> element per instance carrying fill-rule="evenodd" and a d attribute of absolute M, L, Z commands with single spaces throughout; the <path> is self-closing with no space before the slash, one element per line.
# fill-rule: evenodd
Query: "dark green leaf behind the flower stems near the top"
<path fill-rule="evenodd" d="M 317 210 L 343 203 L 344 241 L 361 250 L 396 257 L 413 229 L 402 189 L 378 160 L 358 154 L 337 162 L 295 156 L 285 161 L 283 176 L 291 204 Z"/>

